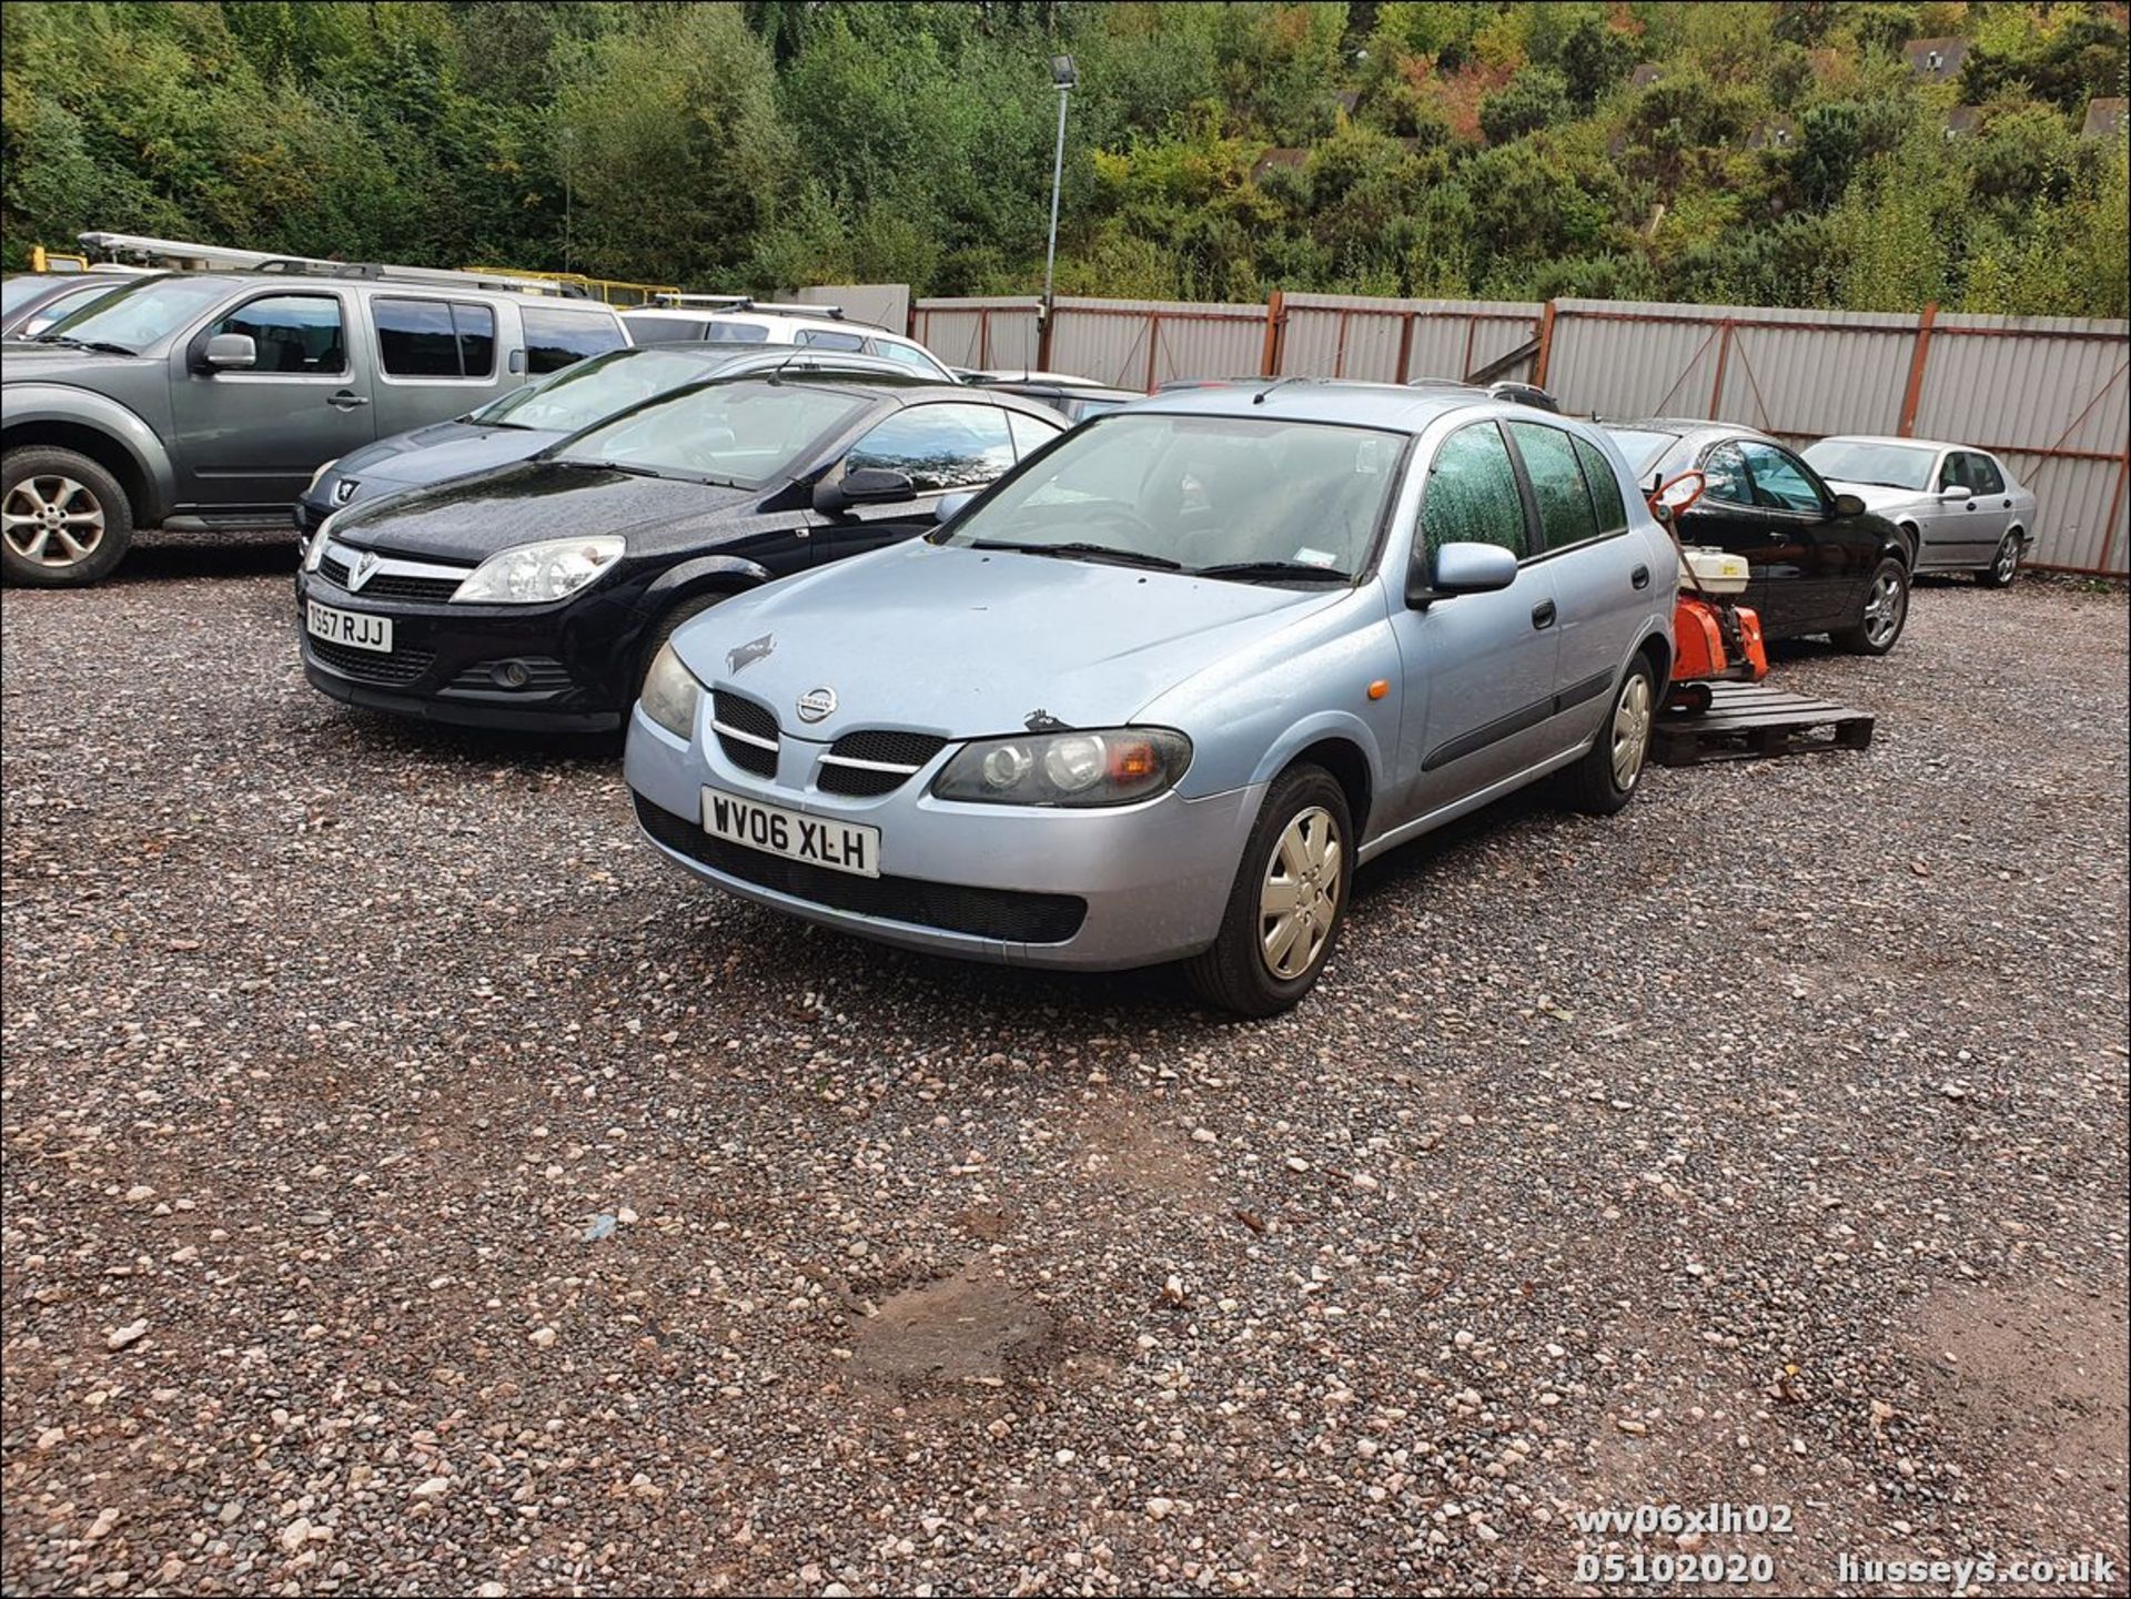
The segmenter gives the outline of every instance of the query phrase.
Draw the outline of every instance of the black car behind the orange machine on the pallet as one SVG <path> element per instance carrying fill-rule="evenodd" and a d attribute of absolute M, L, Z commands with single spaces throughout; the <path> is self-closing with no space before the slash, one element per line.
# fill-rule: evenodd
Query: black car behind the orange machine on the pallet
<path fill-rule="evenodd" d="M 1743 603 L 1767 639 L 1824 632 L 1841 649 L 1884 656 L 1909 620 L 1909 560 L 1901 530 L 1837 494 L 1794 451 L 1735 422 L 1603 422 L 1637 481 L 1686 471 L 1707 479 L 1673 524 L 1679 543 L 1745 556 Z"/>

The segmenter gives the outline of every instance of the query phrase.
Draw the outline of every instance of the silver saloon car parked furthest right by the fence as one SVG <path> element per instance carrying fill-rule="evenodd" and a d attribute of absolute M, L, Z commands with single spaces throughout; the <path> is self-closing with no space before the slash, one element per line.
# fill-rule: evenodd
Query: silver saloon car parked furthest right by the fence
<path fill-rule="evenodd" d="M 1801 454 L 1828 488 L 1903 530 L 1912 571 L 1978 573 L 2005 588 L 2035 541 L 2035 492 L 1988 449 L 1839 434 Z"/>

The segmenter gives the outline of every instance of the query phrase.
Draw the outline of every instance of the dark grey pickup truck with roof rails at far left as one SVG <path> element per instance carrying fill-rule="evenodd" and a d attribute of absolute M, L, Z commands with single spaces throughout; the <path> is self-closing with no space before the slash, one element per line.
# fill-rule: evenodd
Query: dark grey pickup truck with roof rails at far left
<path fill-rule="evenodd" d="M 0 358 L 0 564 L 107 577 L 134 528 L 286 528 L 337 456 L 629 343 L 595 300 L 394 268 L 173 273 Z"/>

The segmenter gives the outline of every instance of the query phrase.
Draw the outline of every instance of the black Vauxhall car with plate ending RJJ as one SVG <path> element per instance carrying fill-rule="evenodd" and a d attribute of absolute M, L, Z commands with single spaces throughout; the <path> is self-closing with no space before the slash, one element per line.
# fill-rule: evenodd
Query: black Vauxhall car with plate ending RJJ
<path fill-rule="evenodd" d="M 330 515 L 305 547 L 311 686 L 497 728 L 620 726 L 684 620 L 910 539 L 1066 422 L 1010 394 L 876 375 L 710 377 L 533 460 Z"/>

